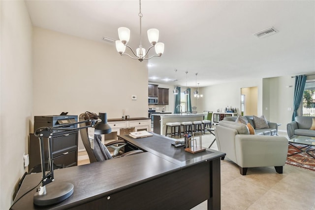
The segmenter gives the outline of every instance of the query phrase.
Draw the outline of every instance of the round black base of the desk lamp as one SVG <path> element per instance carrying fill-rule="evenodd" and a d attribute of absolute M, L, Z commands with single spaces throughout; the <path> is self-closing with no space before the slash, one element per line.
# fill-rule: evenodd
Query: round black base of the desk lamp
<path fill-rule="evenodd" d="M 37 206 L 48 206 L 57 204 L 69 198 L 73 193 L 73 184 L 68 182 L 51 182 L 45 185 L 47 193 L 39 195 L 34 194 L 34 204 Z"/>

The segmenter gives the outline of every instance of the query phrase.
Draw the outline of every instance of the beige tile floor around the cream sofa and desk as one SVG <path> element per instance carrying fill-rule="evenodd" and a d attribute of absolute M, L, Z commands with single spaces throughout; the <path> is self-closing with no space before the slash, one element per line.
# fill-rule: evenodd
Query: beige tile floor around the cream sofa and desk
<path fill-rule="evenodd" d="M 279 133 L 286 137 L 286 133 Z M 206 132 L 202 145 L 208 147 L 214 136 Z M 217 150 L 216 142 L 211 149 Z M 89 160 L 79 161 L 79 165 Z M 203 202 L 192 210 L 206 210 Z M 284 165 L 284 173 L 274 167 L 239 168 L 225 157 L 221 160 L 221 210 L 315 210 L 315 171 Z"/>

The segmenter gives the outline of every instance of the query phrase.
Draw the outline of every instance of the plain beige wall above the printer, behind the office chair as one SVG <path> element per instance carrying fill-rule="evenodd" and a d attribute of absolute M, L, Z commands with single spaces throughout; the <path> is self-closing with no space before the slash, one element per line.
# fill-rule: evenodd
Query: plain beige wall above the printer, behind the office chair
<path fill-rule="evenodd" d="M 123 109 L 130 117 L 148 115 L 146 62 L 120 56 L 114 44 L 37 27 L 33 34 L 34 115 L 102 111 L 121 118 Z"/>

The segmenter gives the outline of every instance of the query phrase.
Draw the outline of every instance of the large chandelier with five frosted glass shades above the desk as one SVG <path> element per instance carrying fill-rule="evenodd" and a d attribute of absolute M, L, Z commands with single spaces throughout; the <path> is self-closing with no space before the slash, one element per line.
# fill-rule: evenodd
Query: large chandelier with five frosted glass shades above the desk
<path fill-rule="evenodd" d="M 161 57 L 161 55 L 164 52 L 164 43 L 158 42 L 158 29 L 149 29 L 148 30 L 148 39 L 149 42 L 151 43 L 151 47 L 148 49 L 146 52 L 146 49 L 142 47 L 141 43 L 141 18 L 143 17 L 141 13 L 141 0 L 139 0 L 139 18 L 140 18 L 140 45 L 139 48 L 136 49 L 136 53 L 127 45 L 129 38 L 130 38 L 130 30 L 126 27 L 120 27 L 118 29 L 118 36 L 120 40 L 116 41 L 116 49 L 120 55 L 127 55 L 132 59 L 138 59 L 140 62 L 143 60 L 149 60 L 153 57 Z M 133 53 L 134 56 L 132 57 L 128 54 L 125 54 L 126 47 L 128 47 L 131 52 Z M 148 54 L 149 50 L 155 47 L 157 55 L 153 55 L 150 58 L 146 58 L 146 55 Z"/>

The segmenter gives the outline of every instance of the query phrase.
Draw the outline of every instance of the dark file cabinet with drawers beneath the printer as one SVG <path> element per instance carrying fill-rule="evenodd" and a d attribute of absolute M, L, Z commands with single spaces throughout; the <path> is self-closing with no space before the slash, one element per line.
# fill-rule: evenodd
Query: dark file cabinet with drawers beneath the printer
<path fill-rule="evenodd" d="M 52 136 L 54 169 L 78 165 L 78 131 L 61 132 Z M 48 140 L 44 138 L 45 160 L 48 163 Z M 29 171 L 41 172 L 39 139 L 30 134 Z"/>

